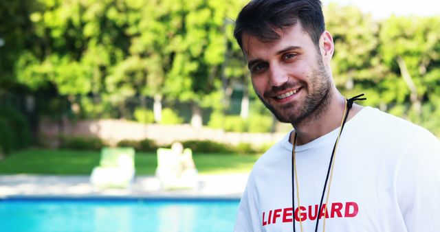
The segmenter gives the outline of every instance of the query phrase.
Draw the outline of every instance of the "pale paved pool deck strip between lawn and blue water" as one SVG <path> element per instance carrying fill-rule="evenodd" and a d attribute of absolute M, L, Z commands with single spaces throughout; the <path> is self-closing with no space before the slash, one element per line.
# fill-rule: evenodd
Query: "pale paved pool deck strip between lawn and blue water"
<path fill-rule="evenodd" d="M 200 174 L 199 187 L 164 190 L 154 176 L 136 176 L 127 189 L 97 189 L 89 176 L 0 175 L 1 198 L 232 198 L 238 199 L 248 174 Z"/>

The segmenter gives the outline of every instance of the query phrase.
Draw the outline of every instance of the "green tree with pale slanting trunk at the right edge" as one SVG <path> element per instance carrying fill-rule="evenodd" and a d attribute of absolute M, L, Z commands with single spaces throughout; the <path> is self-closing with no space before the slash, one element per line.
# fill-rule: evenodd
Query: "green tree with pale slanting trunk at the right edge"
<path fill-rule="evenodd" d="M 384 83 L 392 112 L 440 131 L 440 18 L 391 16 L 382 23 L 380 53 L 393 72 Z M 406 107 L 409 105 L 409 107 Z"/>

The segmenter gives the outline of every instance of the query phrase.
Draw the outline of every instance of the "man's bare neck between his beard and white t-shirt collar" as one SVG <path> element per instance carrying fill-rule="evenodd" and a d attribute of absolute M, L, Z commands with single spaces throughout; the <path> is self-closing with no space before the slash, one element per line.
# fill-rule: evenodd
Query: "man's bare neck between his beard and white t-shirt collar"
<path fill-rule="evenodd" d="M 297 133 L 296 144 L 303 145 L 309 143 L 314 139 L 318 139 L 322 135 L 335 130 L 341 124 L 344 117 L 345 97 L 343 97 L 338 91 L 331 95 L 327 108 L 318 117 L 309 117 L 308 120 L 303 121 L 301 124 L 294 125 L 295 132 Z M 353 104 L 353 108 L 349 113 L 347 121 L 351 119 L 356 113 L 362 109 L 361 106 Z M 294 136 L 291 136 L 290 142 L 293 143 Z"/>

